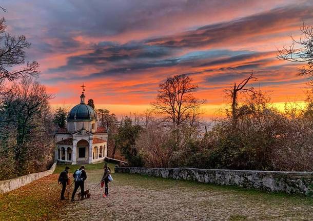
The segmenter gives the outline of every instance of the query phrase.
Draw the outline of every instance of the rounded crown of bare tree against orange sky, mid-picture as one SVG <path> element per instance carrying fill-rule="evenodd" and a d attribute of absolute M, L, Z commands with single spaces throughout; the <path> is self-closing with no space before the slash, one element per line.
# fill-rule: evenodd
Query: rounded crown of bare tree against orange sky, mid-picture
<path fill-rule="evenodd" d="M 198 86 L 192 84 L 192 79 L 186 74 L 168 77 L 160 84 L 156 101 L 152 103 L 155 113 L 163 117 L 164 122 L 180 126 L 193 122 L 200 112 L 195 110 L 205 103 L 193 96 Z"/>

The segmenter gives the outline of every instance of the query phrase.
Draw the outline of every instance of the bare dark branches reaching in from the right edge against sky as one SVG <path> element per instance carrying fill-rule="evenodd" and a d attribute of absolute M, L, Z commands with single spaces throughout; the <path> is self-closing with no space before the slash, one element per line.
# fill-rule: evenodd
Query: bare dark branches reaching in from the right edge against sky
<path fill-rule="evenodd" d="M 299 68 L 299 75 L 308 75 L 310 84 L 313 80 L 313 26 L 300 26 L 300 39 L 291 37 L 292 43 L 289 47 L 277 49 L 277 58 L 283 61 L 306 63 L 305 66 Z"/>

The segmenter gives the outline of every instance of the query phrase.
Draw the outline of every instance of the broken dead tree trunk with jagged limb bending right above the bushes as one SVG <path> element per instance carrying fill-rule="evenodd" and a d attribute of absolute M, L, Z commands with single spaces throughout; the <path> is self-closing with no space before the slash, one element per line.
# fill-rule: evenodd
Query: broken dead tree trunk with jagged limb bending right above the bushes
<path fill-rule="evenodd" d="M 233 126 L 236 127 L 237 124 L 237 118 L 238 118 L 238 93 L 239 92 L 251 92 L 255 93 L 255 90 L 253 87 L 245 88 L 246 85 L 249 83 L 249 81 L 257 81 L 258 78 L 253 77 L 253 71 L 251 71 L 251 74 L 249 77 L 245 78 L 241 83 L 238 85 L 236 82 L 233 83 L 233 89 L 227 89 L 226 93 L 231 98 L 231 116 L 232 116 L 232 123 Z"/>

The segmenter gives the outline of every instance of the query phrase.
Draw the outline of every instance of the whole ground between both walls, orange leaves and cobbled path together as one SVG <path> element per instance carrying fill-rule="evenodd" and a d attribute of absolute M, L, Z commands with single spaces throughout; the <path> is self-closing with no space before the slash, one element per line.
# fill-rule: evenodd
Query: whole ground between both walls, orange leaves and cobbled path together
<path fill-rule="evenodd" d="M 2 195 L 0 220 L 313 220 L 309 197 L 134 174 L 114 173 L 103 198 L 102 166 L 86 171 L 91 198 L 60 202 L 58 174 L 52 174 Z"/>

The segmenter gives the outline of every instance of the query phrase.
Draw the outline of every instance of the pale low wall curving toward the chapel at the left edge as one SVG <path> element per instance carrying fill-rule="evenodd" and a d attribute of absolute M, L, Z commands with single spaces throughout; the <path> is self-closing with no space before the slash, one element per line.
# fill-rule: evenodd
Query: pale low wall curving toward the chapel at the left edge
<path fill-rule="evenodd" d="M 22 187 L 26 184 L 33 182 L 36 179 L 40 179 L 44 176 L 48 176 L 52 174 L 55 170 L 56 162 L 51 166 L 49 170 L 39 172 L 39 173 L 31 173 L 25 176 L 19 176 L 13 179 L 2 180 L 0 181 L 0 194 L 6 193 L 11 190 L 15 190 L 19 187 Z"/>

